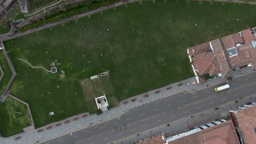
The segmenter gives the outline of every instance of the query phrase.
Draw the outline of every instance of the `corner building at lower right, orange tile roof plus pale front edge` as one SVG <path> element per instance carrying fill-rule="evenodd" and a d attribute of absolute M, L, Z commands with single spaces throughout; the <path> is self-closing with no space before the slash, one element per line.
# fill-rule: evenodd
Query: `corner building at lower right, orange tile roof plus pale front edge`
<path fill-rule="evenodd" d="M 231 116 L 234 120 L 241 143 L 256 143 L 256 103 L 238 107 L 232 110 Z"/>

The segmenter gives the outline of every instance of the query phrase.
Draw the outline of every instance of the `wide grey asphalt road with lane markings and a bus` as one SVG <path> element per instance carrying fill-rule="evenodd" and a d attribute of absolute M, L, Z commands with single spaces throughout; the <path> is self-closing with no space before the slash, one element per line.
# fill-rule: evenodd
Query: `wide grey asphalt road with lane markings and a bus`
<path fill-rule="evenodd" d="M 124 139 L 127 136 L 195 115 L 195 113 L 212 109 L 229 101 L 256 94 L 255 79 L 256 73 L 252 73 L 232 80 L 229 83 L 230 88 L 220 92 L 215 92 L 214 88 L 217 86 L 213 86 L 195 93 L 174 94 L 131 109 L 120 118 L 93 125 L 43 143 L 97 144 Z M 218 86 L 225 85 L 225 83 Z"/>

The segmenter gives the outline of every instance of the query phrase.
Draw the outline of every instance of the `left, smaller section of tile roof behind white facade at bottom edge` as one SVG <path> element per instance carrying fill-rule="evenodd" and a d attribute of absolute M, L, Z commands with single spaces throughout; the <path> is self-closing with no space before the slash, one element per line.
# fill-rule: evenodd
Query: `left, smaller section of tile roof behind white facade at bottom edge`
<path fill-rule="evenodd" d="M 197 133 L 182 137 L 181 139 L 177 139 L 177 140 L 168 142 L 168 144 L 183 144 L 183 143 L 206 144 L 206 141 L 203 138 L 202 132 L 199 131 Z"/>

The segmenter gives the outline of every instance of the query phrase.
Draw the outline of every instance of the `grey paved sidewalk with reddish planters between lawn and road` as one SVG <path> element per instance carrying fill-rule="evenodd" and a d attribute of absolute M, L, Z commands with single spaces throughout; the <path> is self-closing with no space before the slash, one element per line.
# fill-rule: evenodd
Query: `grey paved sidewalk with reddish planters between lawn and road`
<path fill-rule="evenodd" d="M 239 77 L 239 76 L 251 73 L 253 71 L 254 70 L 251 67 L 240 69 L 235 71 L 233 77 L 234 78 Z M 216 77 L 200 85 L 199 84 L 193 85 L 192 83 L 194 81 L 195 81 L 195 78 L 192 77 L 190 79 L 176 82 L 159 89 L 154 89 L 153 91 L 149 91 L 147 93 L 139 94 L 135 97 L 121 101 L 120 106 L 114 107 L 106 112 L 103 112 L 101 115 L 96 115 L 96 114 L 89 115 L 89 113 L 83 113 L 81 115 L 64 119 L 61 122 L 45 125 L 44 127 L 38 128 L 36 130 L 26 131 L 25 133 L 7 137 L 7 138 L 0 137 L 0 143 L 33 144 L 37 142 L 43 142 L 49 139 L 53 139 L 55 137 L 59 137 L 64 134 L 72 133 L 73 131 L 77 131 L 79 129 L 90 127 L 91 125 L 95 125 L 103 121 L 108 121 L 109 119 L 119 117 L 123 112 L 126 112 L 129 109 L 132 109 L 134 107 L 144 105 L 152 101 L 165 98 L 179 92 L 183 92 L 183 91 L 194 92 L 199 89 L 206 88 L 207 85 L 213 86 L 213 85 L 217 85 L 218 83 L 225 82 L 226 79 L 222 79 L 221 77 Z M 189 83 L 189 85 L 187 85 L 187 83 Z M 170 89 L 170 87 L 172 88 Z M 147 94 L 148 94 L 148 97 L 144 98 L 144 95 L 147 95 Z M 87 115 L 87 116 L 83 117 L 84 115 Z M 65 123 L 66 121 L 69 121 L 69 122 Z M 61 125 L 58 125 L 56 127 L 56 124 L 58 123 L 61 123 Z M 40 131 L 39 133 L 38 133 L 38 130 Z M 20 136 L 20 139 L 15 140 L 15 138 L 19 136 Z"/>

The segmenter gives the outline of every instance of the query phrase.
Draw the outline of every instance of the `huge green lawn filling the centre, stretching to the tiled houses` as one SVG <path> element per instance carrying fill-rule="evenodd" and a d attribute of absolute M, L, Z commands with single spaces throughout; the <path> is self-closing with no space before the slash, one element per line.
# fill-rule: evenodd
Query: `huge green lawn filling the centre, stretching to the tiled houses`
<path fill-rule="evenodd" d="M 5 41 L 18 73 L 11 93 L 30 104 L 36 127 L 95 112 L 83 80 L 109 70 L 109 95 L 120 101 L 192 77 L 186 49 L 255 26 L 255 10 L 250 5 L 148 1 Z M 17 58 L 46 69 L 60 64 L 51 74 Z"/>

